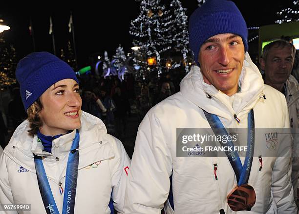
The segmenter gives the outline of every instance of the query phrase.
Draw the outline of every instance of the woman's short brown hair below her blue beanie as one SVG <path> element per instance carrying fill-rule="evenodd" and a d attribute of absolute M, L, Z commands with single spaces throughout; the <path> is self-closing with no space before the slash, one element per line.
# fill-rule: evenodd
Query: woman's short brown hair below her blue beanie
<path fill-rule="evenodd" d="M 39 112 L 42 111 L 43 105 L 38 98 L 28 109 L 28 121 L 30 130 L 28 130 L 30 136 L 34 136 L 38 129 L 43 125 L 42 119 L 39 117 Z"/>

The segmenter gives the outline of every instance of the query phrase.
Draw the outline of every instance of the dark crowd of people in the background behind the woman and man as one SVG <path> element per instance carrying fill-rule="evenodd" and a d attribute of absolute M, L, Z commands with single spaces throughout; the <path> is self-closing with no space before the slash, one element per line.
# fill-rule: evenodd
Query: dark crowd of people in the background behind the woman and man
<path fill-rule="evenodd" d="M 79 77 L 80 95 L 82 97 L 81 109 L 101 119 L 107 126 L 108 132 L 119 139 L 126 137 L 128 117 L 135 117 L 139 122 L 148 110 L 166 97 L 177 92 L 171 74 L 158 81 L 136 80 L 134 75 L 128 73 L 124 80 L 117 76 L 106 78 L 87 74 Z M 8 114 L 1 112 L 0 138 L 1 147 L 4 148 L 9 141 L 9 133 L 27 118 L 21 101 L 20 87 L 10 89 L 11 101 L 8 103 Z"/>

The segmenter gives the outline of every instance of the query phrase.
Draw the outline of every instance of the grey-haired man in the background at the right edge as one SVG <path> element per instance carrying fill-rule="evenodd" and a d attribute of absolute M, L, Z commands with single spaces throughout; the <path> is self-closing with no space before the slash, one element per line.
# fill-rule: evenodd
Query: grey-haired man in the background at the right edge
<path fill-rule="evenodd" d="M 263 48 L 260 59 L 261 69 L 265 73 L 265 84 L 285 95 L 289 110 L 290 125 L 293 135 L 292 184 L 294 199 L 297 201 L 299 171 L 299 85 L 291 75 L 296 48 L 292 43 L 277 40 Z"/>

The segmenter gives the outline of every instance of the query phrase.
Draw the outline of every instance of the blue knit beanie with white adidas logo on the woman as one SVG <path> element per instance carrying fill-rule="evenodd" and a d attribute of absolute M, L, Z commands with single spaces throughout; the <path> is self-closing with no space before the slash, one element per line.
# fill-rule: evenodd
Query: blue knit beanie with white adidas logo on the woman
<path fill-rule="evenodd" d="M 75 71 L 48 52 L 34 52 L 20 60 L 16 69 L 25 111 L 54 83 L 63 79 L 79 81 Z"/>

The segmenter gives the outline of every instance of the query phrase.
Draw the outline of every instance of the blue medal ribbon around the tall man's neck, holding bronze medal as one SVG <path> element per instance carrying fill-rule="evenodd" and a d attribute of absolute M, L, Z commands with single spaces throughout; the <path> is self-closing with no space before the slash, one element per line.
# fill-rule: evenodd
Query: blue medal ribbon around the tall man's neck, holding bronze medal
<path fill-rule="evenodd" d="M 203 110 L 213 132 L 215 135 L 220 136 L 228 136 L 228 133 L 226 129 L 224 128 L 222 122 L 220 119 L 214 115 L 206 112 Z M 234 146 L 234 143 L 232 141 L 228 141 L 226 144 L 219 142 L 222 146 Z M 235 176 L 238 182 L 238 186 L 242 184 L 247 184 L 250 170 L 252 166 L 253 161 L 253 155 L 254 155 L 254 149 L 255 149 L 255 116 L 253 109 L 248 113 L 248 127 L 247 127 L 247 152 L 246 157 L 244 161 L 244 166 L 242 166 L 239 154 L 234 152 L 225 152 L 227 158 L 229 159 L 234 171 Z"/>

